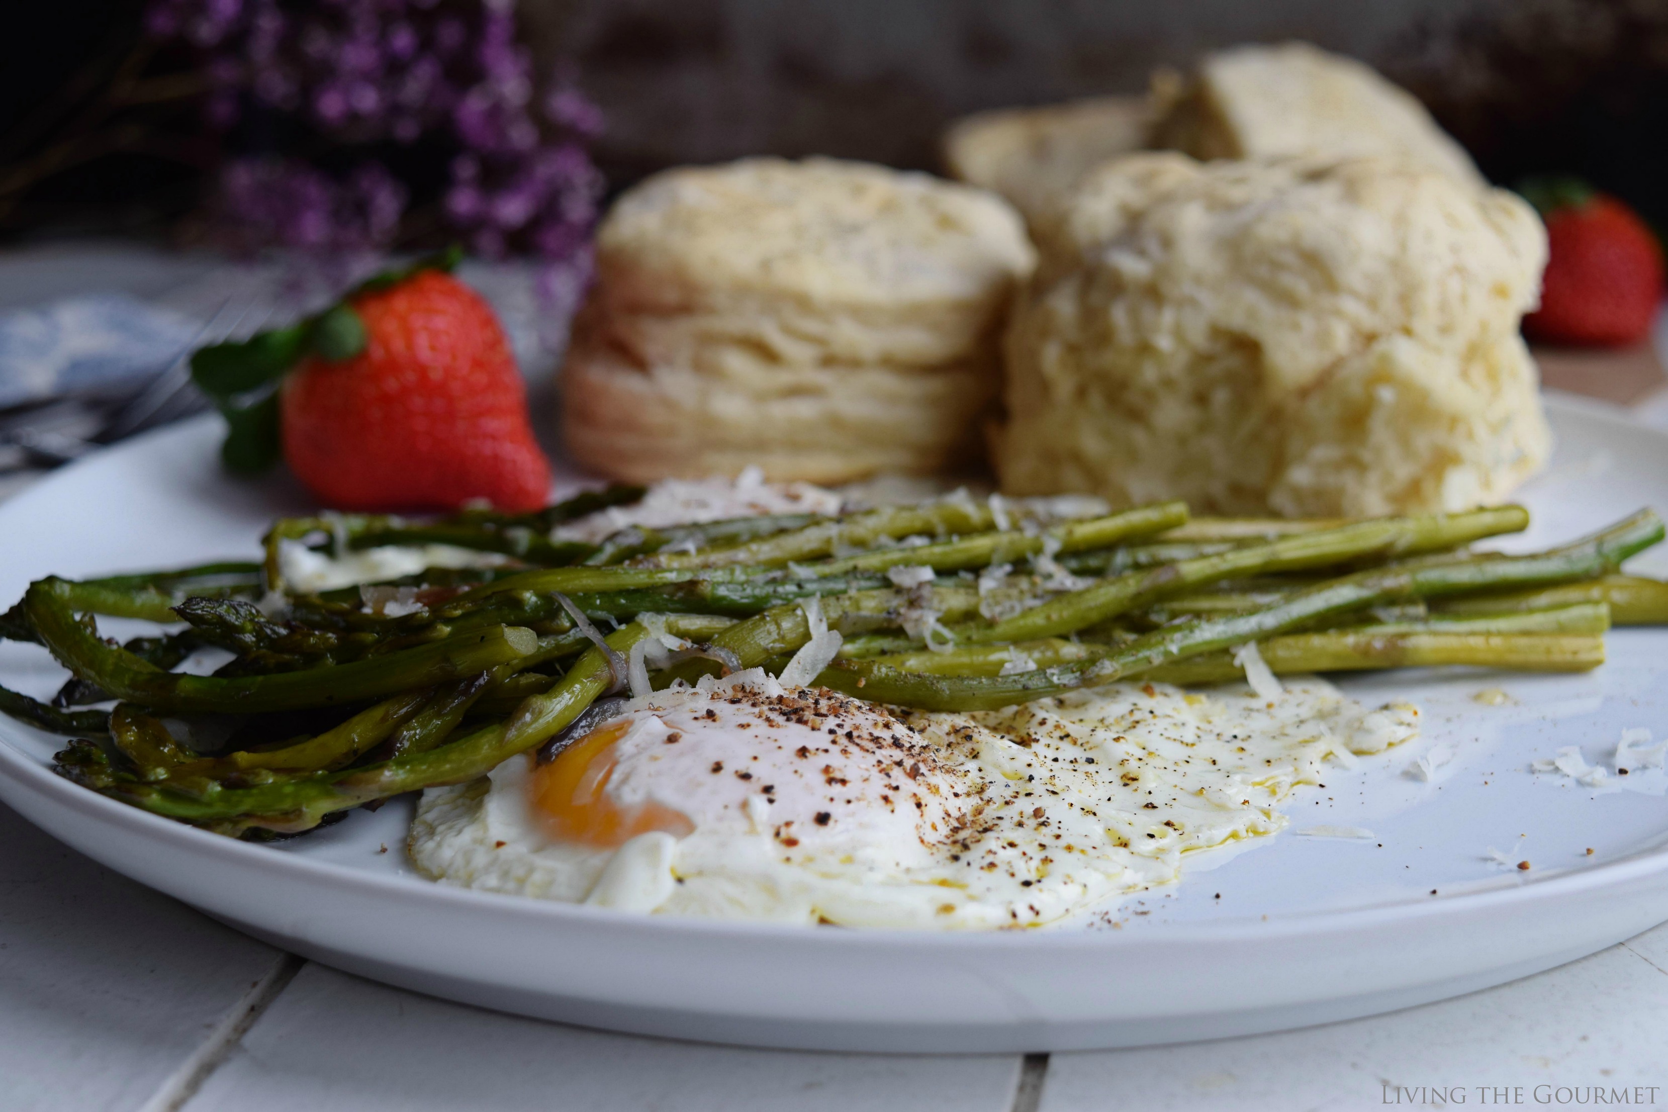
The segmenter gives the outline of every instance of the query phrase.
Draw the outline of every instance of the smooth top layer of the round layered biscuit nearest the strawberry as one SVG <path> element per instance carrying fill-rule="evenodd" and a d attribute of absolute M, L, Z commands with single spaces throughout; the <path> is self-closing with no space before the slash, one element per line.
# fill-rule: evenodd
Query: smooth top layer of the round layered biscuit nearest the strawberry
<path fill-rule="evenodd" d="M 937 362 L 982 342 L 1031 245 L 982 190 L 834 158 L 657 173 L 597 230 L 610 315 L 759 317 L 837 360 Z"/>

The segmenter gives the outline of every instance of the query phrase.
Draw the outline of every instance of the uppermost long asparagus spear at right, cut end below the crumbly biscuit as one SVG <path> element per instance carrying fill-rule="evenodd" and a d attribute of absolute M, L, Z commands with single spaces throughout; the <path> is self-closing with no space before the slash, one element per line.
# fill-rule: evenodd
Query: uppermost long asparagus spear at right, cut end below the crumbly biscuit
<path fill-rule="evenodd" d="M 1516 532 L 1528 525 L 1523 507 L 1473 510 L 1470 513 L 1428 513 L 1356 522 L 1281 537 L 1263 545 L 1233 548 L 1218 555 L 1131 572 L 1084 590 L 1051 599 L 1039 607 L 994 625 L 957 630 L 971 642 L 1036 640 L 1059 637 L 1104 622 L 1164 594 L 1238 575 L 1326 567 L 1366 555 L 1393 557 Z"/>

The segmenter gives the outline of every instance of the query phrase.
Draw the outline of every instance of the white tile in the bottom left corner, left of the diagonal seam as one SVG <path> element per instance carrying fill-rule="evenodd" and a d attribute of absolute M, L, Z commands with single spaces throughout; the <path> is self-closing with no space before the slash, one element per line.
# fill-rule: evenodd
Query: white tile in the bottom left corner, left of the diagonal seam
<path fill-rule="evenodd" d="M 279 954 L 0 807 L 0 1109 L 142 1105 Z"/>

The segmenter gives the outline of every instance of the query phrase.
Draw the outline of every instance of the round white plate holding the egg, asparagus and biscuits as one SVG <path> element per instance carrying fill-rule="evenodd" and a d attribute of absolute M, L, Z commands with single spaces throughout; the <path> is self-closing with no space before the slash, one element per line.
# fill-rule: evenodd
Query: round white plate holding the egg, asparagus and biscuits
<path fill-rule="evenodd" d="M 1525 498 L 1545 545 L 1668 508 L 1668 437 L 1556 400 L 1561 447 Z M 103 452 L 0 507 L 0 604 L 47 574 L 180 565 L 255 550 L 302 508 L 284 480 L 222 477 L 202 420 Z M 1655 560 L 1655 564 L 1653 564 Z M 1641 567 L 1661 572 L 1661 557 Z M 934 935 L 637 917 L 432 885 L 404 855 L 409 804 L 280 847 L 157 819 L 48 770 L 55 739 L 0 719 L 0 799 L 87 855 L 307 957 L 392 984 L 599 1027 L 839 1050 L 1066 1050 L 1209 1039 L 1436 1000 L 1591 954 L 1668 919 L 1668 800 L 1531 774 L 1625 727 L 1668 732 L 1668 630 L 1610 635 L 1588 675 L 1424 670 L 1346 680 L 1411 697 L 1426 735 L 1301 792 L 1293 827 L 1116 929 Z M 0 684 L 38 697 L 62 672 L 0 644 Z M 1500 687 L 1511 702 L 1473 700 Z M 1453 764 L 1423 782 L 1433 745 Z M 1650 787 L 1633 779 L 1630 789 Z M 1520 835 L 1526 835 L 1521 837 Z M 384 852 L 382 847 L 387 847 Z M 1591 847 L 1591 854 L 1588 849 Z M 1533 869 L 1486 860 L 1490 849 Z M 1221 864 L 1221 862 L 1218 862 Z M 1436 890 L 1433 895 L 1431 890 Z M 142 955 L 133 955 L 142 960 Z"/>

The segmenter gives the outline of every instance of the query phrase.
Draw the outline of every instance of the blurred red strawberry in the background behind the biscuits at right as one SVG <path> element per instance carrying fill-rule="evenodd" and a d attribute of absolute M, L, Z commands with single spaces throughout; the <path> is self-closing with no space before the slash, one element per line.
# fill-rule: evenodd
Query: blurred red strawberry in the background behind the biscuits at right
<path fill-rule="evenodd" d="M 1550 257 L 1541 307 L 1523 330 L 1550 343 L 1635 343 L 1663 297 L 1663 252 L 1650 227 L 1615 197 L 1580 183 L 1523 190 L 1546 220 Z"/>

